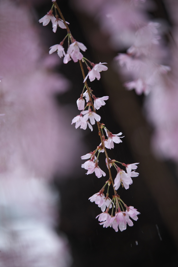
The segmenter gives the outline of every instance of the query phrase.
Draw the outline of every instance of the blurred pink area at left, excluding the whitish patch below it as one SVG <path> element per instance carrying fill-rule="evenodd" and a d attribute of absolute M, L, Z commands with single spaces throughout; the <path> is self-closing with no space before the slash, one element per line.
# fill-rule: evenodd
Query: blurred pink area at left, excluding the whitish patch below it
<path fill-rule="evenodd" d="M 75 165 L 73 156 L 80 158 L 77 147 L 82 148 L 70 111 L 54 99 L 69 82 L 49 71 L 56 57 L 44 56 L 28 9 L 10 1 L 0 4 L 0 112 L 5 114 L 0 117 L 0 171 L 22 164 L 33 175 L 49 179 L 59 171 L 66 176 Z"/>

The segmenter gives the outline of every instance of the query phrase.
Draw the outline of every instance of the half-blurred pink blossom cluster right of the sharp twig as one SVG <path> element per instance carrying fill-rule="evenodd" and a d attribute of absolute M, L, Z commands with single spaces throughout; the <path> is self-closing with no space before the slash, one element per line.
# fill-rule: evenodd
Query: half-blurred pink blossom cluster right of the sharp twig
<path fill-rule="evenodd" d="M 162 76 L 171 70 L 169 66 L 158 63 L 159 23 L 149 22 L 135 33 L 135 41 L 126 54 L 119 54 L 115 59 L 123 68 L 126 76 L 132 77 L 125 83 L 128 90 L 135 89 L 138 95 L 148 95 L 161 83 Z"/>

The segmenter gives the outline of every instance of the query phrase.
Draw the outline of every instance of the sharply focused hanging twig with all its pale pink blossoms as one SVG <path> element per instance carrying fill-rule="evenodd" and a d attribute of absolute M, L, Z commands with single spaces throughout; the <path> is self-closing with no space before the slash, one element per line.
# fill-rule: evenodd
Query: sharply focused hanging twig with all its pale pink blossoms
<path fill-rule="evenodd" d="M 87 78 L 89 78 L 90 81 L 93 81 L 95 78 L 97 78 L 97 80 L 100 79 L 100 72 L 108 69 L 104 65 L 107 63 L 100 62 L 98 64 L 94 64 L 93 62 L 89 61 L 87 58 L 83 56 L 80 50 L 85 52 L 85 50 L 87 49 L 86 46 L 82 44 L 81 42 L 76 41 L 73 38 L 69 30 L 69 26 L 68 26 L 69 23 L 65 21 L 56 1 L 52 0 L 52 2 L 53 2 L 53 5 L 52 5 L 51 10 L 43 18 L 41 18 L 39 22 L 40 23 L 43 22 L 43 25 L 45 26 L 51 20 L 54 32 L 56 32 L 57 26 L 59 26 L 62 29 L 66 29 L 68 33 L 66 37 L 60 42 L 60 44 L 53 45 L 50 47 L 49 54 L 52 54 L 53 52 L 57 51 L 58 56 L 60 58 L 64 56 L 64 60 L 63 60 L 64 64 L 68 63 L 71 59 L 74 62 L 79 61 L 82 74 L 83 74 L 83 78 L 84 78 L 84 88 L 82 90 L 80 98 L 78 98 L 77 100 L 77 107 L 81 112 L 79 115 L 73 118 L 72 124 L 75 123 L 75 128 L 80 127 L 81 129 L 84 129 L 84 130 L 87 128 L 87 125 L 88 125 L 92 131 L 93 130 L 92 125 L 94 125 L 96 122 L 98 131 L 99 131 L 99 136 L 100 136 L 101 143 L 99 144 L 99 146 L 93 152 L 90 152 L 81 157 L 81 159 L 88 159 L 84 164 L 82 164 L 81 167 L 87 170 L 86 172 L 87 175 L 95 173 L 95 175 L 98 178 L 100 178 L 101 176 L 106 176 L 106 173 L 103 170 L 101 170 L 101 168 L 98 166 L 98 158 L 99 158 L 100 152 L 105 152 L 106 166 L 108 167 L 108 170 L 109 170 L 109 179 L 106 181 L 102 189 L 98 193 L 90 197 L 89 200 L 91 202 L 95 202 L 98 205 L 98 207 L 101 207 L 102 213 L 97 216 L 99 222 L 101 222 L 100 225 L 103 225 L 103 227 L 112 226 L 115 231 L 118 231 L 118 227 L 119 227 L 119 229 L 123 231 L 126 229 L 127 223 L 129 226 L 133 225 L 133 222 L 130 220 L 130 218 L 136 221 L 138 219 L 137 215 L 140 213 L 136 209 L 134 209 L 134 207 L 132 206 L 128 207 L 121 200 L 116 190 L 120 187 L 120 185 L 122 185 L 122 187 L 125 187 L 125 189 L 129 188 L 129 185 L 132 184 L 132 177 L 136 177 L 139 175 L 137 172 L 132 171 L 132 170 L 136 170 L 138 163 L 125 164 L 125 163 L 118 162 L 115 159 L 111 160 L 108 157 L 106 148 L 107 149 L 114 148 L 114 143 L 116 144 L 121 143 L 122 142 L 121 138 L 124 136 L 120 136 L 122 135 L 121 132 L 118 134 L 112 134 L 112 132 L 110 132 L 105 127 L 104 123 L 100 123 L 101 117 L 100 115 L 96 113 L 96 110 L 100 109 L 101 106 L 104 106 L 105 100 L 108 100 L 109 97 L 108 96 L 96 97 L 92 93 L 93 90 L 89 88 L 87 84 Z M 53 9 L 55 9 L 56 14 L 58 11 L 61 19 L 58 17 L 58 15 L 54 17 Z M 65 53 L 63 44 L 67 37 L 68 37 L 68 49 Z M 86 77 L 84 74 L 82 62 L 85 63 L 88 69 L 88 74 L 86 75 Z M 92 69 L 90 68 L 88 63 L 91 65 Z M 118 163 L 124 166 L 126 171 L 118 167 L 117 165 Z M 112 166 L 114 166 L 117 171 L 114 181 L 113 181 L 111 171 L 110 171 L 110 168 Z M 109 188 L 111 184 L 114 190 L 114 196 L 112 197 L 112 199 L 109 198 Z M 105 190 L 106 185 L 108 185 L 108 190 L 107 190 L 106 197 L 105 197 L 104 190 Z M 125 207 L 125 210 L 124 210 L 124 207 Z M 115 208 L 115 215 L 113 214 L 114 208 Z M 112 209 L 111 215 L 108 213 L 109 209 Z"/>

